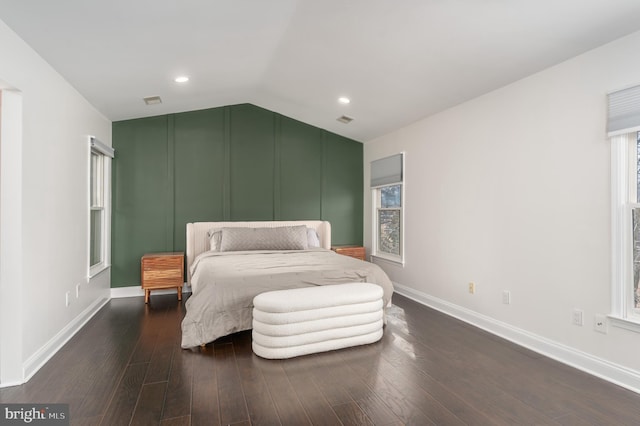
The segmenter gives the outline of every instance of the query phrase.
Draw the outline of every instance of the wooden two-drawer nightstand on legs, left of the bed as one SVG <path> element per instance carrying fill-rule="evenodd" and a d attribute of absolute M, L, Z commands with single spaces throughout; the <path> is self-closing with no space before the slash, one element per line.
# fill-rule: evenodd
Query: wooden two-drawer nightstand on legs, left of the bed
<path fill-rule="evenodd" d="M 177 288 L 182 300 L 184 283 L 184 253 L 148 253 L 140 260 L 140 281 L 144 290 L 144 303 L 149 303 L 151 290 Z"/>

